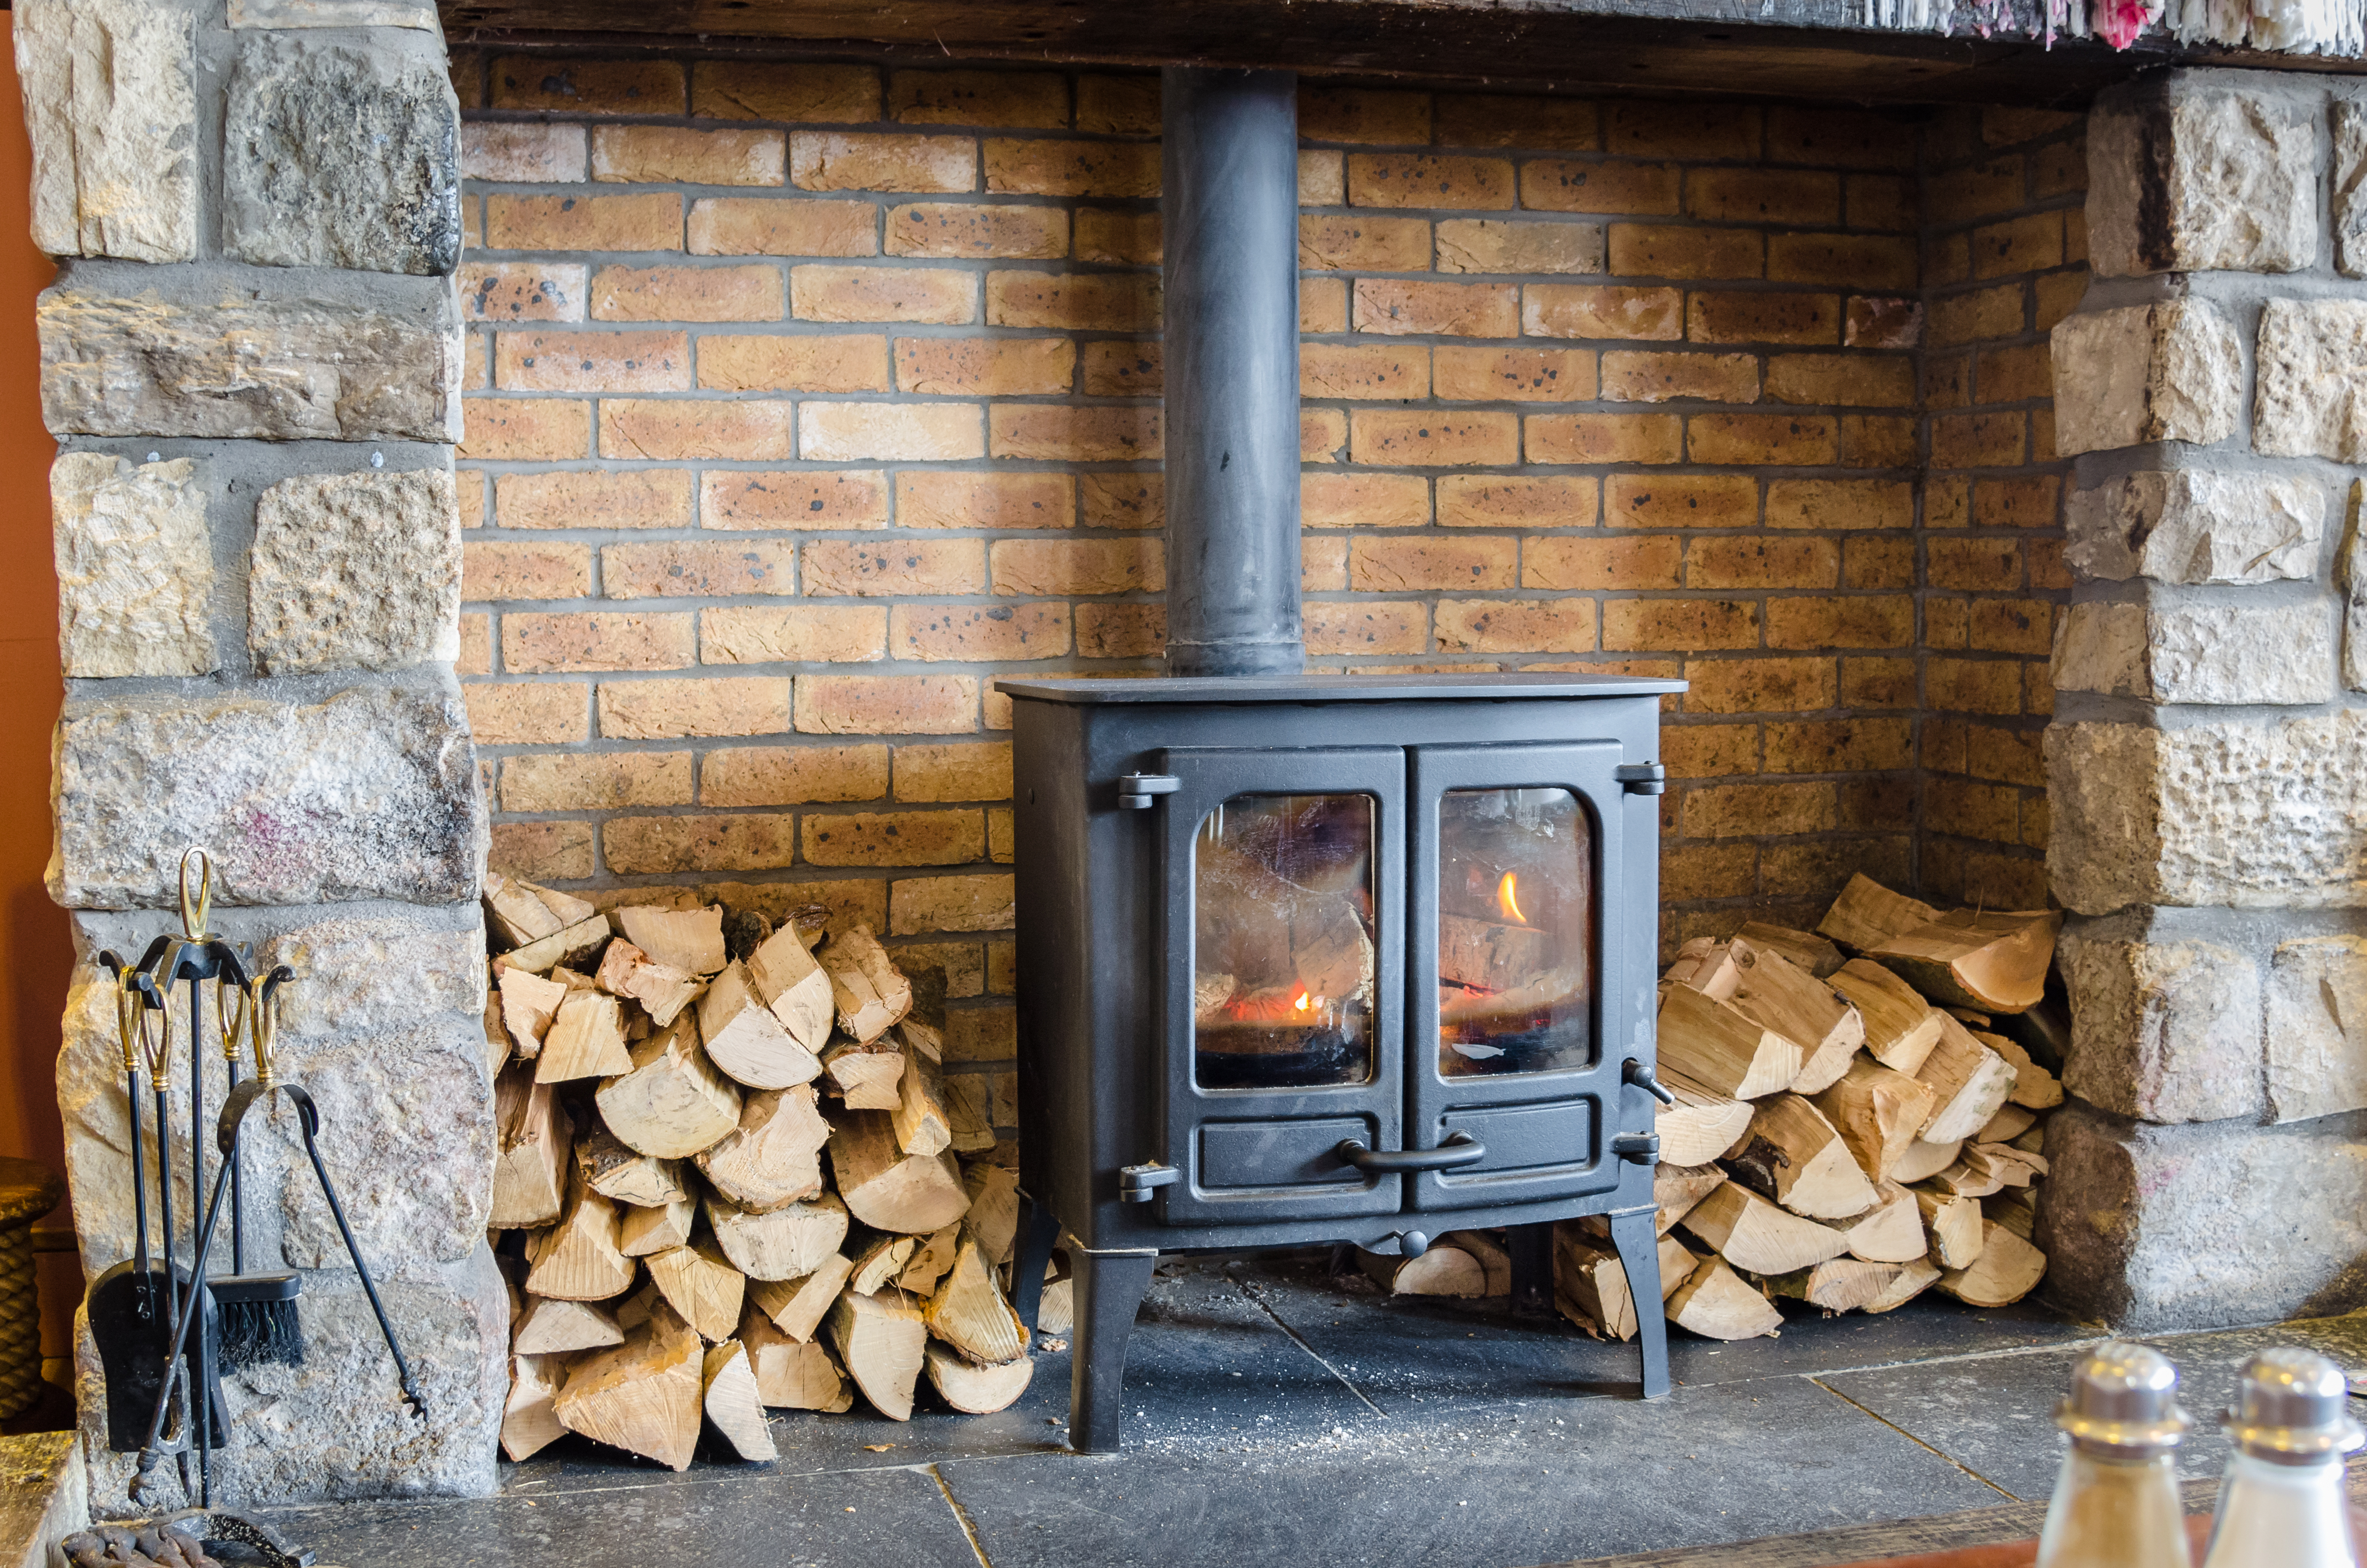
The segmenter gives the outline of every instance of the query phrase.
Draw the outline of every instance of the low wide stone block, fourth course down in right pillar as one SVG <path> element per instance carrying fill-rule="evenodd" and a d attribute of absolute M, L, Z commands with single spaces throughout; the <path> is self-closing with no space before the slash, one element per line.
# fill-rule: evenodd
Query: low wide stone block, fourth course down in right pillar
<path fill-rule="evenodd" d="M 2161 703 L 2334 696 L 2322 604 L 2073 604 L 2055 623 L 2055 689 Z"/>

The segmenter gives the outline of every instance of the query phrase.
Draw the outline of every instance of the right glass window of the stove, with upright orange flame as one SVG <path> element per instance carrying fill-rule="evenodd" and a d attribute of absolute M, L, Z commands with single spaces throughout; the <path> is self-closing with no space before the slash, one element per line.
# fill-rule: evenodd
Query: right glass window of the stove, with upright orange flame
<path fill-rule="evenodd" d="M 1567 789 L 1439 801 L 1439 1075 L 1593 1061 L 1593 860 Z"/>

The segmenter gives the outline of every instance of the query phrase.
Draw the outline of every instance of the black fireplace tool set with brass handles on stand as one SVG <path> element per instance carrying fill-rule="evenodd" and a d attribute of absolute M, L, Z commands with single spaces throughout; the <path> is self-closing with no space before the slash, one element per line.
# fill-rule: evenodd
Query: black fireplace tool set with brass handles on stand
<path fill-rule="evenodd" d="M 272 1037 L 277 1028 L 279 988 L 296 973 L 279 964 L 253 973 L 246 943 L 230 943 L 206 931 L 213 905 L 213 860 L 192 848 L 180 862 L 180 936 L 159 936 L 137 964 L 116 952 L 102 952 L 114 983 L 116 1030 L 123 1045 L 125 1104 L 133 1151 L 133 1258 L 99 1274 L 90 1289 L 90 1334 L 107 1371 L 107 1435 L 116 1452 L 137 1452 L 140 1471 L 133 1497 L 151 1502 L 159 1492 L 156 1471 L 170 1457 L 180 1471 L 185 1497 L 211 1509 L 211 1452 L 225 1445 L 230 1416 L 222 1405 L 220 1369 L 267 1362 L 301 1364 L 303 1331 L 296 1298 L 303 1281 L 294 1272 L 246 1270 L 246 1217 L 239 1170 L 239 1139 L 246 1113 L 272 1094 L 296 1106 L 305 1156 L 320 1180 L 322 1199 L 336 1220 L 346 1255 L 362 1281 L 379 1331 L 395 1357 L 402 1397 L 421 1419 L 426 1405 L 412 1386 L 409 1362 L 395 1343 L 395 1326 L 379 1300 L 362 1248 L 346 1222 L 329 1168 L 320 1158 L 320 1111 L 303 1085 L 275 1073 Z M 206 1196 L 189 1262 L 175 1253 L 173 1210 L 175 1170 L 168 1094 L 173 1082 L 173 1011 L 175 985 L 189 988 L 187 1066 L 189 1066 L 189 1201 L 206 1194 L 206 990 L 213 990 L 213 1033 L 220 1040 L 230 1094 L 213 1123 L 220 1163 Z M 241 1054 L 253 1056 L 253 1078 L 241 1082 Z M 147 1156 L 142 1151 L 140 1101 L 142 1075 L 156 1111 L 156 1199 L 161 1210 L 161 1258 L 149 1253 Z M 230 1267 L 220 1279 L 206 1277 L 222 1201 L 230 1201 Z M 230 1521 L 230 1516 L 220 1516 Z"/>

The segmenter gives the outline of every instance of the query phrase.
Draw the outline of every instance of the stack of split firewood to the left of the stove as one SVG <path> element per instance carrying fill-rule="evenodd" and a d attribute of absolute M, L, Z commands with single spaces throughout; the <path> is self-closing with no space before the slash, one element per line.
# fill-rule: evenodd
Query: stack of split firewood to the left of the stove
<path fill-rule="evenodd" d="M 679 1471 L 701 1419 L 772 1459 L 767 1409 L 1027 1388 L 1018 1177 L 987 1080 L 937 1071 L 944 976 L 824 914 L 743 912 L 727 950 L 720 905 L 488 876 L 511 1459 L 575 1431 Z"/>

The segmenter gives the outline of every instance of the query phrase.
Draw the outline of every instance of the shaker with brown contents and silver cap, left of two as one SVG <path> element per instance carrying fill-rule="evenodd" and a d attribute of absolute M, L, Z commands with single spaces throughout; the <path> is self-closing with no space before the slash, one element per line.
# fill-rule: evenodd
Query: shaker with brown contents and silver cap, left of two
<path fill-rule="evenodd" d="M 2189 1568 L 2173 1461 L 2189 1424 L 2175 1393 L 2178 1369 L 2145 1345 L 2107 1341 L 2071 1369 L 2038 1568 Z"/>

